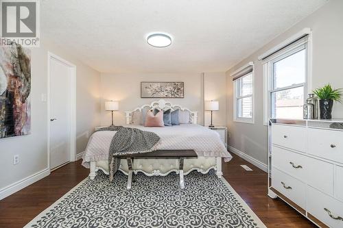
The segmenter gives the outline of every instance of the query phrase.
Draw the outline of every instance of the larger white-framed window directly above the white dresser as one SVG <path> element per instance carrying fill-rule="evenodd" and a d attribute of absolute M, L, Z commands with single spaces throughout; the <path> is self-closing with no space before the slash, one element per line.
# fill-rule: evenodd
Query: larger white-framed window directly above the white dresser
<path fill-rule="evenodd" d="M 269 55 L 263 64 L 265 124 L 268 118 L 302 119 L 307 93 L 308 36 Z"/>

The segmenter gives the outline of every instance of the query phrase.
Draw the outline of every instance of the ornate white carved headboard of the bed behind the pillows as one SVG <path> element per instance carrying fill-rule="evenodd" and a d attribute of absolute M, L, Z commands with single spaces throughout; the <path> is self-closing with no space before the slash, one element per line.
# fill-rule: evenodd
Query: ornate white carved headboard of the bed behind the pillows
<path fill-rule="evenodd" d="M 198 123 L 198 112 L 193 112 L 189 110 L 186 107 L 182 107 L 181 105 L 172 105 L 169 101 L 165 101 L 163 99 L 158 101 L 153 101 L 150 105 L 143 105 L 141 107 L 136 107 L 132 111 L 125 112 L 126 113 L 126 124 L 129 125 L 132 120 L 132 113 L 135 111 L 141 111 L 144 107 L 150 107 L 150 108 L 159 108 L 161 110 L 171 110 L 174 111 L 176 109 L 182 110 L 182 111 L 188 111 L 191 116 L 191 123 L 197 124 Z"/>

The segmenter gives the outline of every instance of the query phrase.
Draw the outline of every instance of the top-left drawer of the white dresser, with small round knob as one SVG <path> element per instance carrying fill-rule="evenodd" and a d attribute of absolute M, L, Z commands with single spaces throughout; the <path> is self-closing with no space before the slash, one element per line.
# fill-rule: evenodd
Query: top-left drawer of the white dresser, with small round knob
<path fill-rule="evenodd" d="M 306 128 L 272 125 L 272 143 L 297 151 L 306 151 Z"/>

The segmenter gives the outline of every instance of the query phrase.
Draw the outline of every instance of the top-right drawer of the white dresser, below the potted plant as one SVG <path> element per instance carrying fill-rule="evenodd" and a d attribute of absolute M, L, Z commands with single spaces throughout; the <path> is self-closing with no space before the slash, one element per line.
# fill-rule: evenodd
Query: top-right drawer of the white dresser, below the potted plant
<path fill-rule="evenodd" d="M 307 153 L 343 163 L 343 131 L 308 129 Z"/>

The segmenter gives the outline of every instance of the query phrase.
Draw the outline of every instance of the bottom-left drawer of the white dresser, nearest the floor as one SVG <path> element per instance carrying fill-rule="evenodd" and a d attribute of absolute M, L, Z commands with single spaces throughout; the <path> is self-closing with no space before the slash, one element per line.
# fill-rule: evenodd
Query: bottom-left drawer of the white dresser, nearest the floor
<path fill-rule="evenodd" d="M 272 167 L 272 187 L 303 209 L 306 208 L 305 183 Z"/>

